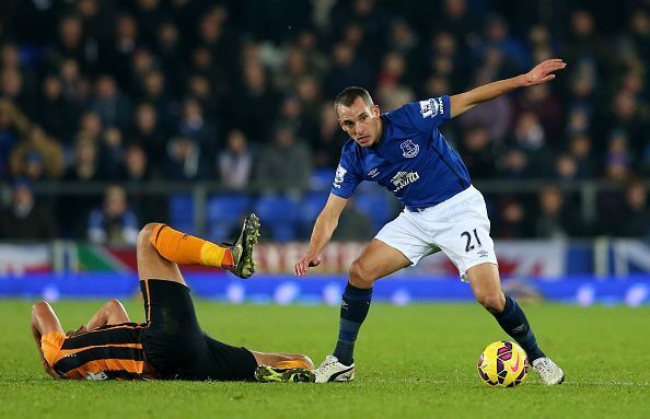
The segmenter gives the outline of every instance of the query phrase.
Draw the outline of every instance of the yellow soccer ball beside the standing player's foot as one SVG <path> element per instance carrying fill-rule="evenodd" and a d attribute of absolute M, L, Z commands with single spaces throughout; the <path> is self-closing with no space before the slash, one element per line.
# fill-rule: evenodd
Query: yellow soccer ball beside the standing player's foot
<path fill-rule="evenodd" d="M 529 373 L 529 357 L 515 342 L 499 340 L 485 348 L 478 357 L 478 375 L 491 386 L 514 387 Z"/>

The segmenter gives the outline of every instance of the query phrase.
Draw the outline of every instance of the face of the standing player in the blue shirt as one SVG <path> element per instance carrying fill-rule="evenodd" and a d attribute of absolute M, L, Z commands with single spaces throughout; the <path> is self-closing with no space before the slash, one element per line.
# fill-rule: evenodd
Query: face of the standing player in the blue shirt
<path fill-rule="evenodd" d="M 361 97 L 357 97 L 350 106 L 338 107 L 338 121 L 343 130 L 361 147 L 371 147 L 379 140 L 381 133 L 379 106 L 368 106 Z"/>

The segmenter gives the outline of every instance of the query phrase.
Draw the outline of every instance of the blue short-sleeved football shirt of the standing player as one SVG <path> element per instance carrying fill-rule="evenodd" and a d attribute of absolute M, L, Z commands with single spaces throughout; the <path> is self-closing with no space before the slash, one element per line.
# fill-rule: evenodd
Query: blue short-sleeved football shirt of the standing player
<path fill-rule="evenodd" d="M 332 193 L 349 198 L 363 182 L 376 182 L 409 209 L 432 207 L 465 190 L 469 174 L 438 127 L 451 118 L 449 96 L 413 102 L 381 116 L 376 144 L 348 140 Z"/>

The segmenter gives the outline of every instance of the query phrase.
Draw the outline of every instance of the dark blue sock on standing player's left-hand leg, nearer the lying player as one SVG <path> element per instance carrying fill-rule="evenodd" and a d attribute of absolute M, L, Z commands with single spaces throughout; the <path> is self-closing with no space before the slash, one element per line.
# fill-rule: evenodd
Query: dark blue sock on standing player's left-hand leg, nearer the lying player
<path fill-rule="evenodd" d="M 350 282 L 346 286 L 340 303 L 338 341 L 333 353 L 345 365 L 350 365 L 353 362 L 355 341 L 361 324 L 368 315 L 371 300 L 372 288 L 364 290 L 351 286 Z"/>

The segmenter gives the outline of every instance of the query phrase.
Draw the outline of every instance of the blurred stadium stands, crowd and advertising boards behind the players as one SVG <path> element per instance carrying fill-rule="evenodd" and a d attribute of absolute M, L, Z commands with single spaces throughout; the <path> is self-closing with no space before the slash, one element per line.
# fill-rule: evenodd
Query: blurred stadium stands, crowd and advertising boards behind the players
<path fill-rule="evenodd" d="M 129 295 L 140 225 L 221 241 L 255 211 L 260 273 L 188 269 L 194 291 L 338 304 L 350 261 L 401 208 L 362 185 L 321 275 L 291 277 L 345 141 L 334 95 L 362 85 L 390 110 L 549 57 L 568 63 L 553 83 L 443 132 L 486 195 L 510 292 L 647 304 L 647 0 L 4 0 L 0 295 Z M 471 300 L 454 276 L 437 255 L 375 294 Z"/>

